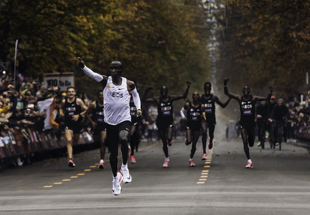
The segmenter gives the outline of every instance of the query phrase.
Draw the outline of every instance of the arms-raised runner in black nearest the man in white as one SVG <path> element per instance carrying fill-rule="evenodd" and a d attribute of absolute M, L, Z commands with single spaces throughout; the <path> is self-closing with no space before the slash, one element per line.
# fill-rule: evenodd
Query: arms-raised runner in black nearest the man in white
<path fill-rule="evenodd" d="M 161 96 L 156 96 L 153 98 L 146 99 L 148 91 L 153 87 L 148 87 L 143 95 L 142 102 L 156 102 L 157 104 L 157 120 L 156 125 L 159 132 L 159 137 L 162 140 L 162 149 L 165 153 L 165 163 L 162 167 L 168 167 L 169 164 L 169 154 L 168 146 L 172 145 L 172 135 L 173 135 L 173 106 L 172 103 L 176 100 L 185 99 L 189 86 L 191 85 L 188 81 L 186 82 L 187 88 L 182 96 L 168 96 L 168 88 L 163 86 L 160 89 Z"/>

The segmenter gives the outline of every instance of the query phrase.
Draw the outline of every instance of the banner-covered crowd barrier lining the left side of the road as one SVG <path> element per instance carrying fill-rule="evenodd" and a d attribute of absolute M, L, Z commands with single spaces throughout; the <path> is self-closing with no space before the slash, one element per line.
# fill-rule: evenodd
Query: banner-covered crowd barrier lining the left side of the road
<path fill-rule="evenodd" d="M 0 138 L 0 159 L 2 164 L 6 159 L 29 154 L 48 153 L 52 150 L 66 150 L 66 138 L 64 134 L 53 130 L 38 132 L 33 128 L 26 128 L 22 131 L 11 128 L 4 131 L 4 136 Z M 94 144 L 93 135 L 87 130 L 83 130 L 78 146 Z"/>

